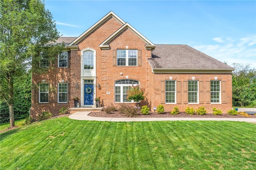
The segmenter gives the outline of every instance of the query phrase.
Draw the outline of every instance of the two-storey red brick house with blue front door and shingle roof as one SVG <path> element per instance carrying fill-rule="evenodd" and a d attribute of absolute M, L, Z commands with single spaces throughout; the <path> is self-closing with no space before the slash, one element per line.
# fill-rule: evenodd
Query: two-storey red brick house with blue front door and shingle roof
<path fill-rule="evenodd" d="M 128 87 L 145 89 L 140 106 L 162 104 L 166 111 L 178 106 L 204 106 L 208 113 L 217 107 L 223 113 L 232 108 L 234 68 L 188 45 L 155 45 L 113 12 L 96 22 L 79 37 L 60 37 L 66 51 L 49 65 L 46 74 L 32 74 L 32 109 L 57 115 L 62 107 L 80 109 L 100 105 L 136 104 L 126 99 Z"/>

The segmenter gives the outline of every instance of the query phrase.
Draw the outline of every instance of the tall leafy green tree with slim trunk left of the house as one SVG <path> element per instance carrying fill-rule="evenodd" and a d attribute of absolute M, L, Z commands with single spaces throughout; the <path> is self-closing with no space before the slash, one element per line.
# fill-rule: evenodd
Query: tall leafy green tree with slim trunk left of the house
<path fill-rule="evenodd" d="M 0 1 L 0 101 L 9 107 L 10 127 L 14 126 L 14 82 L 22 78 L 40 51 L 54 60 L 63 45 L 53 45 L 60 37 L 52 14 L 41 0 Z"/>

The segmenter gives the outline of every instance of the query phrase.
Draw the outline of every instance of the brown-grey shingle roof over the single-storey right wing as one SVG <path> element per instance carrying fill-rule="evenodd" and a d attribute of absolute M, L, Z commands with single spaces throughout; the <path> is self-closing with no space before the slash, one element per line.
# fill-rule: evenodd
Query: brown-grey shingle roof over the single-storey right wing
<path fill-rule="evenodd" d="M 148 59 L 153 72 L 231 72 L 224 64 L 188 45 L 156 45 L 152 59 Z"/>

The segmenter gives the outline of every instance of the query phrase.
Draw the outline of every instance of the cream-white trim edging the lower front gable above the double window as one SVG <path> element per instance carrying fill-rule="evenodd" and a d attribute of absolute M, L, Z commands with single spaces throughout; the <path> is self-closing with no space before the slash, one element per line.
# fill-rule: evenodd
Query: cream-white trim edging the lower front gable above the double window
<path fill-rule="evenodd" d="M 145 48 L 151 48 L 154 49 L 156 46 L 149 41 L 146 37 L 144 37 L 144 35 L 142 35 L 139 31 L 137 31 L 134 27 L 132 27 L 132 25 L 130 25 L 129 23 L 125 23 L 122 27 L 120 27 L 116 32 L 114 32 L 112 35 L 110 35 L 110 37 L 108 37 L 105 41 L 103 41 L 99 46 L 101 49 L 109 49 L 109 42 L 114 39 L 118 34 L 120 34 L 124 29 L 130 29 L 133 33 L 135 33 L 138 37 L 140 37 L 140 39 L 142 39 L 146 45 Z"/>

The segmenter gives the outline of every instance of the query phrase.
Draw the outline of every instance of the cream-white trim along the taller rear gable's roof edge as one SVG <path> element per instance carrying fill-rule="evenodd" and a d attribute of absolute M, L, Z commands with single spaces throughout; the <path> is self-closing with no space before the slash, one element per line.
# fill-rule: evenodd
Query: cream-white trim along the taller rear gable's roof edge
<path fill-rule="evenodd" d="M 84 37 L 86 37 L 86 35 L 88 35 L 89 33 L 91 33 L 94 29 L 96 29 L 100 24 L 102 24 L 104 21 L 108 20 L 108 18 L 110 17 L 115 18 L 119 23 L 121 23 L 122 25 L 125 24 L 125 22 L 119 18 L 114 12 L 110 11 L 108 14 L 106 14 L 106 16 L 104 16 L 103 18 L 101 18 L 98 22 L 96 22 L 94 25 L 92 25 L 89 29 L 87 29 L 84 33 L 82 33 L 79 37 L 77 37 L 74 41 L 72 41 L 68 46 L 71 45 L 77 45 L 77 43 L 83 39 Z M 67 47 L 68 47 L 67 46 Z"/>

